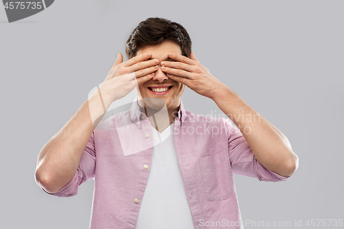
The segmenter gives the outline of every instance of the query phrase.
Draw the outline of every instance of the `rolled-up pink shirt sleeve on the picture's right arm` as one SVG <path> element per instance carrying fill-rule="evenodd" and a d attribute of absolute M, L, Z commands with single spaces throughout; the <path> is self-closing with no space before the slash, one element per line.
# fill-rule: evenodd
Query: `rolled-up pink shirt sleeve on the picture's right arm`
<path fill-rule="evenodd" d="M 256 177 L 264 182 L 280 182 L 289 179 L 283 177 L 260 164 L 250 146 L 237 127 L 230 121 L 225 121 L 228 137 L 228 153 L 232 171 L 238 175 Z"/>

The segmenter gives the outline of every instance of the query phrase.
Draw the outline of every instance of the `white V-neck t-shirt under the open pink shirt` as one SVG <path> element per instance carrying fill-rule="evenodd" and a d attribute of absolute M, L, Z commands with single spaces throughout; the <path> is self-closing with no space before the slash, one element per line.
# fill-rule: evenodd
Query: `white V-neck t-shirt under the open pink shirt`
<path fill-rule="evenodd" d="M 151 170 L 135 229 L 192 229 L 193 218 L 186 199 L 173 141 L 173 124 L 162 133 L 153 127 Z"/>

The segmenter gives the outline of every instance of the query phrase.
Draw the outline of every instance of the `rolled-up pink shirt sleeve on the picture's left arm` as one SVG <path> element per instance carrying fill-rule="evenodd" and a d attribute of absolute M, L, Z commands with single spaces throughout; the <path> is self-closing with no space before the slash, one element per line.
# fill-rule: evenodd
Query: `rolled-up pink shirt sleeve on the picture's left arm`
<path fill-rule="evenodd" d="M 78 186 L 87 182 L 87 180 L 92 179 L 95 174 L 96 168 L 96 151 L 94 144 L 94 132 L 89 138 L 83 155 L 80 158 L 80 163 L 74 177 L 61 188 L 57 193 L 47 193 L 43 188 L 45 193 L 50 195 L 56 195 L 58 197 L 72 197 L 78 194 Z"/>

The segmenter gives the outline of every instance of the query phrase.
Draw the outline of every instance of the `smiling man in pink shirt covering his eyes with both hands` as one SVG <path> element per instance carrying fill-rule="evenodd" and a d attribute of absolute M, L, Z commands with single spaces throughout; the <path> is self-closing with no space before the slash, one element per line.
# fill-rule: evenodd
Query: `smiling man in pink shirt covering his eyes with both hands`
<path fill-rule="evenodd" d="M 142 21 L 126 53 L 129 60 L 118 54 L 103 84 L 45 144 L 37 184 L 69 197 L 94 178 L 91 228 L 242 228 L 233 173 L 288 179 L 298 167 L 290 142 L 197 61 L 182 25 Z M 185 85 L 239 129 L 184 109 Z M 131 108 L 100 122 L 136 86 Z"/>

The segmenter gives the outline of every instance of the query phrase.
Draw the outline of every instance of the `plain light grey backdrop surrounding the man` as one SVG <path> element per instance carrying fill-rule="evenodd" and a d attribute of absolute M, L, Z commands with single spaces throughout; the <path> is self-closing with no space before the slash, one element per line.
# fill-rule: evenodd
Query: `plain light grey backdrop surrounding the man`
<path fill-rule="evenodd" d="M 294 228 L 302 220 L 308 228 L 308 219 L 344 219 L 343 7 L 343 1 L 55 1 L 16 23 L 2 8 L 0 228 L 89 227 L 93 180 L 75 197 L 47 195 L 34 182 L 36 160 L 147 17 L 184 25 L 200 62 L 280 129 L 299 156 L 287 182 L 235 175 L 244 221 L 291 221 L 277 228 Z M 182 100 L 195 113 L 221 113 L 191 89 Z"/>

